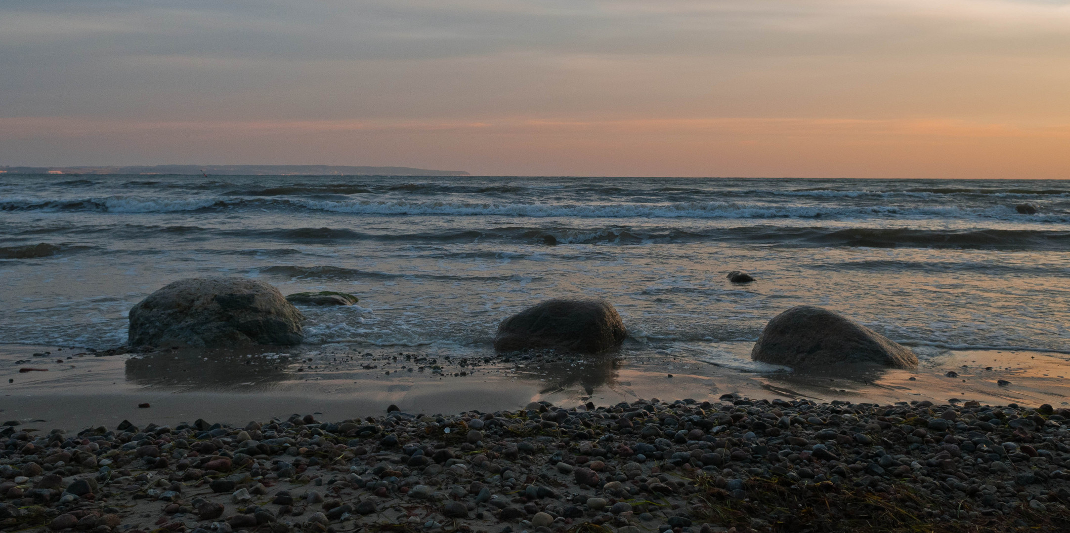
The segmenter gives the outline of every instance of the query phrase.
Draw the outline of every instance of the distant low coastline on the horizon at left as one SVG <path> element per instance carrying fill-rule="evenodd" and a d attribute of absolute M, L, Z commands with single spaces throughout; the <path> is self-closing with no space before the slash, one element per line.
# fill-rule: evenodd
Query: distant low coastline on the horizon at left
<path fill-rule="evenodd" d="M 7 174 L 170 174 L 264 176 L 468 176 L 461 170 L 409 167 L 345 167 L 335 164 L 155 164 L 134 167 L 0 167 Z"/>

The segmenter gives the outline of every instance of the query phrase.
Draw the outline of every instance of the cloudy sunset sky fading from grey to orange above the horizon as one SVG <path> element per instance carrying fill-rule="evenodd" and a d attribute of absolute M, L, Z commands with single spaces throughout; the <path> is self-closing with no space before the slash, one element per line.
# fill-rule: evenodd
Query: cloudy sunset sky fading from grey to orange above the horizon
<path fill-rule="evenodd" d="M 1070 1 L 3 0 L 0 166 L 1070 178 Z"/>

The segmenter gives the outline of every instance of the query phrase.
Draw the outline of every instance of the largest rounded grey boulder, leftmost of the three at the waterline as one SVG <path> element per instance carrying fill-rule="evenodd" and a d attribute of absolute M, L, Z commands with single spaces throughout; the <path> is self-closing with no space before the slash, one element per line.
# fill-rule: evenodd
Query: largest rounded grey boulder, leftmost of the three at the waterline
<path fill-rule="evenodd" d="M 149 295 L 129 319 L 132 347 L 232 347 L 299 344 L 304 316 L 262 281 L 194 278 Z"/>

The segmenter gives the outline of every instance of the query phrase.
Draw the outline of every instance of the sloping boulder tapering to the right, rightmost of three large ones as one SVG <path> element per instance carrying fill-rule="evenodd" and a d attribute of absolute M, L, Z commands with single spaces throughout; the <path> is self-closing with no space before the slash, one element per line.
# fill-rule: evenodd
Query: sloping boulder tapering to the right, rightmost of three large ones
<path fill-rule="evenodd" d="M 813 305 L 789 309 L 769 320 L 750 357 L 796 370 L 845 363 L 877 363 L 898 369 L 918 364 L 918 358 L 908 348 Z"/>

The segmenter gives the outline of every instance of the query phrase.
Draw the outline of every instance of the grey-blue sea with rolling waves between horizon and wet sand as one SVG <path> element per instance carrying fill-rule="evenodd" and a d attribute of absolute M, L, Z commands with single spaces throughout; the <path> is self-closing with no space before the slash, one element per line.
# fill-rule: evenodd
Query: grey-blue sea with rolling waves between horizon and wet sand
<path fill-rule="evenodd" d="M 626 354 L 749 371 L 799 304 L 921 358 L 1070 359 L 1070 182 L 0 174 L 0 343 L 118 346 L 135 303 L 210 276 L 356 295 L 302 308 L 311 346 L 490 354 L 582 297 Z"/>

